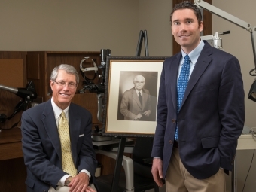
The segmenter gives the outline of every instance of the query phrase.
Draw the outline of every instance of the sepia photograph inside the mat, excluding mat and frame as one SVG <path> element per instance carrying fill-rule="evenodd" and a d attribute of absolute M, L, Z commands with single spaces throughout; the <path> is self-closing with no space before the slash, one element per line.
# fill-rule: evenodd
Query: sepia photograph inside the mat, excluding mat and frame
<path fill-rule="evenodd" d="M 120 72 L 117 120 L 156 120 L 158 72 Z"/>

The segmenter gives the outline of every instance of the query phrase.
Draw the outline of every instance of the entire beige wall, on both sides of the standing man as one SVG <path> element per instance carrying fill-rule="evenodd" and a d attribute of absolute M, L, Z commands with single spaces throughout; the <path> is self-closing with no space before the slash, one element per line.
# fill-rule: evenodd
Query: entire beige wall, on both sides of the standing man
<path fill-rule="evenodd" d="M 212 4 L 256 26 L 254 0 L 212 0 Z M 139 30 L 146 29 L 149 55 L 171 56 L 171 7 L 172 0 L 1 0 L 0 50 L 99 51 L 103 48 L 111 49 L 113 56 L 134 56 Z M 241 64 L 245 125 L 256 126 L 256 103 L 247 99 L 254 80 L 248 74 L 254 68 L 250 33 L 213 16 L 212 33 L 226 30 L 231 34 L 222 36 L 224 50 L 235 55 Z M 251 151 L 237 153 L 238 191 L 242 190 L 251 155 Z M 254 191 L 255 161 L 245 191 Z"/>

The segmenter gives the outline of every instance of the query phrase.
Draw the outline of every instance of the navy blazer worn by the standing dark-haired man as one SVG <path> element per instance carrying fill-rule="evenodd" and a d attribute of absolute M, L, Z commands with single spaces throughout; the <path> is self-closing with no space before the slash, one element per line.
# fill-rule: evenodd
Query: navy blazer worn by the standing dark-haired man
<path fill-rule="evenodd" d="M 152 157 L 162 158 L 165 177 L 178 123 L 178 150 L 191 175 L 204 179 L 215 175 L 220 167 L 232 170 L 245 119 L 239 61 L 205 42 L 177 116 L 180 60 L 178 53 L 163 63 Z"/>

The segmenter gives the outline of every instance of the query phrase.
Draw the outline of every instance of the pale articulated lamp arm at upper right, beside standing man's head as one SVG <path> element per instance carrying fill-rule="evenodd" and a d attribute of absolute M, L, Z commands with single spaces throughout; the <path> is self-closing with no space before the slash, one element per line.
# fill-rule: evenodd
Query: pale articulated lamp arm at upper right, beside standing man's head
<path fill-rule="evenodd" d="M 207 11 L 211 12 L 212 14 L 215 14 L 219 17 L 222 17 L 225 20 L 230 21 L 231 23 L 236 24 L 237 26 L 242 27 L 243 29 L 246 29 L 248 32 L 251 33 L 251 44 L 252 44 L 252 50 L 253 50 L 253 56 L 254 56 L 254 69 L 251 69 L 250 75 L 251 76 L 256 76 L 256 50 L 255 50 L 255 44 L 256 44 L 256 26 L 251 27 L 251 24 L 240 20 L 239 18 L 228 14 L 225 11 L 222 11 L 219 8 L 216 8 L 215 6 L 204 2 L 203 0 L 195 0 L 194 4 L 197 5 L 199 8 L 204 8 Z M 251 72 L 255 71 L 255 74 L 252 74 Z"/>

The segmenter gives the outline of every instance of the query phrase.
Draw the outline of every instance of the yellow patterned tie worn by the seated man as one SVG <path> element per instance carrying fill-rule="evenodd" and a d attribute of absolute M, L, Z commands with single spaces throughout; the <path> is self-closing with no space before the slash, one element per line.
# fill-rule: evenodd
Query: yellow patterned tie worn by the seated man
<path fill-rule="evenodd" d="M 66 119 L 64 111 L 62 111 L 62 114 L 59 119 L 59 139 L 61 143 L 62 170 L 74 177 L 77 174 L 77 169 L 75 168 L 74 162 L 72 160 L 72 151 L 69 136 L 69 123 Z"/>

